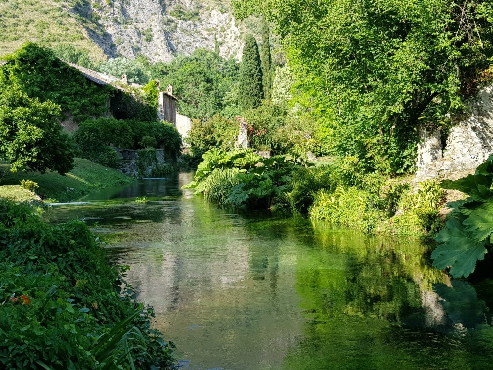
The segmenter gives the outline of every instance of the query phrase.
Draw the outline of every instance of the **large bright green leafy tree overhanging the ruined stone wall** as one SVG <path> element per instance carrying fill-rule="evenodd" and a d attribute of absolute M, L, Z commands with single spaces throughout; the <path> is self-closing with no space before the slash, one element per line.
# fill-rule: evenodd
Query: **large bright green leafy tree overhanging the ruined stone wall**
<path fill-rule="evenodd" d="M 412 169 L 417 127 L 436 127 L 460 109 L 492 61 L 489 0 L 244 0 L 235 7 L 239 17 L 263 13 L 276 24 L 300 79 L 299 102 L 332 133 L 337 154 L 356 155 L 370 170 L 378 158 L 389 172 Z"/>

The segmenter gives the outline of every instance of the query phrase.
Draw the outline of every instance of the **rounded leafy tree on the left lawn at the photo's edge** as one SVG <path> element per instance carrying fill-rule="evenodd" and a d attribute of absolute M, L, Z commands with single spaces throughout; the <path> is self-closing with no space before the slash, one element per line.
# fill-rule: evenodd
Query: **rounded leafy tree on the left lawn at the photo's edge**
<path fill-rule="evenodd" d="M 12 164 L 11 171 L 58 171 L 73 168 L 70 138 L 58 122 L 60 107 L 31 99 L 18 87 L 0 94 L 0 156 Z"/>

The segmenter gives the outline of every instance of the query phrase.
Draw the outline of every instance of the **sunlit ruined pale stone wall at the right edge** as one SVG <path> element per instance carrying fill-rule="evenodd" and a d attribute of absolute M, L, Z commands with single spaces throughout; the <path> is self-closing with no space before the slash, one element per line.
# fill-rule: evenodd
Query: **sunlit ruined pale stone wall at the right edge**
<path fill-rule="evenodd" d="M 418 145 L 418 180 L 475 169 L 493 153 L 493 84 L 482 88 L 454 121 L 443 156 L 436 155 L 436 134 L 423 134 Z"/>

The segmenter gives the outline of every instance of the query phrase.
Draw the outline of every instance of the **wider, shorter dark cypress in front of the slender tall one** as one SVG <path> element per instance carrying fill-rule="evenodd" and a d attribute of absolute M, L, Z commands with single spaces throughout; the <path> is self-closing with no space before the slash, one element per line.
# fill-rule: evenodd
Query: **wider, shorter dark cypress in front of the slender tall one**
<path fill-rule="evenodd" d="M 240 107 L 242 110 L 257 108 L 263 99 L 262 69 L 255 37 L 246 35 L 240 64 Z"/>

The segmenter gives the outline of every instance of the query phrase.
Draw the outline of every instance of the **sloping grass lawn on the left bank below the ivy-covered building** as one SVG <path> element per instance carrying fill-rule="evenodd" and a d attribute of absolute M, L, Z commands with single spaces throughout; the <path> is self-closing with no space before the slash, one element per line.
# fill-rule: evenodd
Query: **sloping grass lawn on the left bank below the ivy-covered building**
<path fill-rule="evenodd" d="M 35 181 L 39 186 L 36 194 L 42 199 L 52 201 L 73 200 L 96 189 L 125 185 L 134 181 L 116 170 L 81 158 L 75 158 L 75 168 L 65 176 L 59 175 L 58 172 L 45 174 L 10 172 L 10 165 L 0 161 L 0 185 L 2 185 L 0 186 L 0 197 L 27 200 L 25 198 L 28 195 L 22 192 L 26 190 L 22 190 L 20 186 L 6 186 L 19 185 L 23 179 Z"/>

